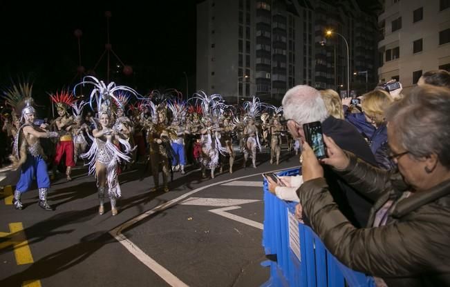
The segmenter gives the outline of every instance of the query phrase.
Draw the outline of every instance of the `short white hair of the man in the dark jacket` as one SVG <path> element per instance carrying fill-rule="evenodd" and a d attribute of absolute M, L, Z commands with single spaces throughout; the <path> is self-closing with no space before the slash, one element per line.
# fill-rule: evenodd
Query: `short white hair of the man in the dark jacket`
<path fill-rule="evenodd" d="M 299 85 L 291 88 L 283 97 L 283 115 L 303 125 L 312 121 L 324 121 L 328 116 L 324 99 L 315 88 Z"/>

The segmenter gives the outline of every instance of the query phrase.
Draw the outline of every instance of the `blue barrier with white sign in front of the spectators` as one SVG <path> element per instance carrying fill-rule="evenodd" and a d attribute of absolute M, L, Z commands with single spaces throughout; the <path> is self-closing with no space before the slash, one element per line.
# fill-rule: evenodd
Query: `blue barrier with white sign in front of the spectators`
<path fill-rule="evenodd" d="M 279 175 L 298 175 L 299 169 Z M 373 287 L 373 277 L 341 264 L 319 237 L 294 217 L 297 203 L 278 199 L 264 181 L 263 247 L 270 261 L 270 280 L 263 286 Z"/>

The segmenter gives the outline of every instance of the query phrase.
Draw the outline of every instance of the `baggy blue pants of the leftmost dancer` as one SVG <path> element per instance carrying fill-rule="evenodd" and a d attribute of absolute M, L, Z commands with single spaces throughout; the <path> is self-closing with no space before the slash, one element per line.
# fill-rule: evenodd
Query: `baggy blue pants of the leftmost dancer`
<path fill-rule="evenodd" d="M 47 164 L 44 159 L 38 155 L 26 155 L 26 161 L 21 166 L 20 179 L 17 182 L 16 190 L 23 193 L 27 192 L 32 184 L 32 179 L 36 175 L 37 188 L 50 188 L 50 179 L 48 179 Z"/>

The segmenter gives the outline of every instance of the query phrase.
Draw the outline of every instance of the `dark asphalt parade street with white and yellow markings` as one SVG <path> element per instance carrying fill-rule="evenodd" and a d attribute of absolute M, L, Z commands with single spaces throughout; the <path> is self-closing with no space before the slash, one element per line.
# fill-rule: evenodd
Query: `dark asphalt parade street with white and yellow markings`
<path fill-rule="evenodd" d="M 54 211 L 39 208 L 36 189 L 15 210 L 15 187 L 5 186 L 0 286 L 261 286 L 270 278 L 261 173 L 299 166 L 285 150 L 279 166 L 269 164 L 267 152 L 256 169 L 242 168 L 238 155 L 234 173 L 224 168 L 214 179 L 189 166 L 174 174 L 169 192 L 149 192 L 150 172 L 137 165 L 119 177 L 114 217 L 109 200 L 98 215 L 95 178 L 80 165 L 73 181 L 53 182 Z"/>

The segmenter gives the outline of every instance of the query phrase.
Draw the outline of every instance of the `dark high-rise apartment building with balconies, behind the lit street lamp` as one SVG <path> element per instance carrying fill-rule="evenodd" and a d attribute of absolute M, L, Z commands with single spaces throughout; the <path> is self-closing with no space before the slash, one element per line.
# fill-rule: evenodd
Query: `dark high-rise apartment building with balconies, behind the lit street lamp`
<path fill-rule="evenodd" d="M 355 0 L 203 1 L 196 88 L 234 103 L 256 95 L 279 104 L 298 84 L 346 90 L 348 71 L 350 85 L 376 82 L 376 24 Z M 348 41 L 349 69 L 344 41 L 325 39 L 328 29 Z"/>

